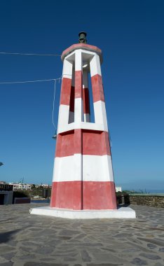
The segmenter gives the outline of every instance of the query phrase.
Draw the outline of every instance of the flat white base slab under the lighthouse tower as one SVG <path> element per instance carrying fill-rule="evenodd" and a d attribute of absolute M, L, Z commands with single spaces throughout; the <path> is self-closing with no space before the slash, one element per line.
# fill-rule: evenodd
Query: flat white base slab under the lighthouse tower
<path fill-rule="evenodd" d="M 30 214 L 54 216 L 69 219 L 95 219 L 95 218 L 136 218 L 135 211 L 129 207 L 119 207 L 116 210 L 81 210 L 57 209 L 50 207 L 38 207 L 29 210 Z"/>

